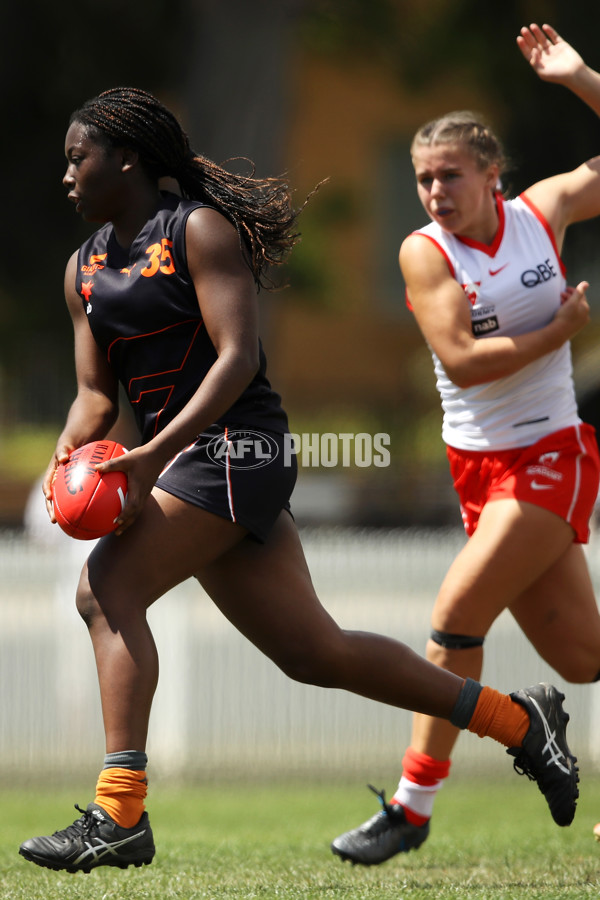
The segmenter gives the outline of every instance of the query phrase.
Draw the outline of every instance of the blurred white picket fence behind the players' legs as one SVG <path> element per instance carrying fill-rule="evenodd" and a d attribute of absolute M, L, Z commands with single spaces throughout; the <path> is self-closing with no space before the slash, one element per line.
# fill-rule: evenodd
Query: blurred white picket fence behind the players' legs
<path fill-rule="evenodd" d="M 56 535 L 54 535 L 56 537 Z M 422 652 L 431 604 L 460 532 L 303 532 L 315 585 L 346 628 L 381 631 Z M 95 772 L 104 753 L 91 644 L 73 597 L 86 544 L 0 540 L 0 778 Z M 600 586 L 600 546 L 590 566 Z M 396 777 L 410 714 L 296 684 L 248 644 L 195 581 L 150 611 L 161 659 L 148 753 L 154 774 Z M 600 755 L 600 685 L 564 684 L 508 614 L 486 643 L 483 680 L 503 690 L 553 681 L 565 690 L 583 766 Z M 509 766 L 502 748 L 462 736 L 455 771 Z"/>

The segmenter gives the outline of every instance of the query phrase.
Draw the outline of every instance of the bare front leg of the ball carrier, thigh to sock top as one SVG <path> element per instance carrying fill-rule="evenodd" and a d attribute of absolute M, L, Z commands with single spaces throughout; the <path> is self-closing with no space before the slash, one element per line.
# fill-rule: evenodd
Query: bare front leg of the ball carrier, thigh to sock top
<path fill-rule="evenodd" d="M 155 489 L 134 525 L 102 541 L 82 572 L 77 607 L 96 657 L 107 753 L 146 744 L 158 678 L 148 607 L 222 555 L 244 530 Z"/>

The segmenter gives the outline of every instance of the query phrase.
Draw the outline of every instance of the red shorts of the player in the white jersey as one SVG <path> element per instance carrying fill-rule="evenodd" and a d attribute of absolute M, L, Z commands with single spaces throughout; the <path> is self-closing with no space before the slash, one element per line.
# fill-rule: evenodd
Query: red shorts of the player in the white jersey
<path fill-rule="evenodd" d="M 446 452 L 469 537 L 486 503 L 512 497 L 556 513 L 574 529 L 575 543 L 588 542 L 600 473 L 591 425 L 562 428 L 514 450 Z"/>

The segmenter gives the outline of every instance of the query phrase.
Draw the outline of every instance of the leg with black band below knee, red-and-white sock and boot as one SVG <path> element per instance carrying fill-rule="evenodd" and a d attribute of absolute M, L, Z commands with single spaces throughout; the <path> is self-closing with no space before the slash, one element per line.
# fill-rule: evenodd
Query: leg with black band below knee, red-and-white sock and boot
<path fill-rule="evenodd" d="M 570 526 L 545 509 L 516 500 L 488 503 L 477 530 L 442 583 L 432 614 L 434 638 L 428 641 L 427 659 L 478 680 L 483 639 L 494 620 L 512 597 L 564 555 L 572 540 Z M 385 815 L 340 835 L 333 842 L 334 852 L 372 864 L 419 847 L 429 833 L 435 796 L 449 774 L 458 734 L 446 720 L 415 715 L 402 778 L 390 803 L 384 805 Z"/>

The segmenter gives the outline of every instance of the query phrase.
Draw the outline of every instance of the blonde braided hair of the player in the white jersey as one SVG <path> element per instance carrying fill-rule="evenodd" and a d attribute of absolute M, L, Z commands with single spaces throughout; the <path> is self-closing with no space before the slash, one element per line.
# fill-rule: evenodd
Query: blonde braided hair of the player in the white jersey
<path fill-rule="evenodd" d="M 469 110 L 447 113 L 421 126 L 413 138 L 411 154 L 418 147 L 437 144 L 460 144 L 472 153 L 481 169 L 496 164 L 500 175 L 506 171 L 508 163 L 502 144 L 492 129 Z"/>

